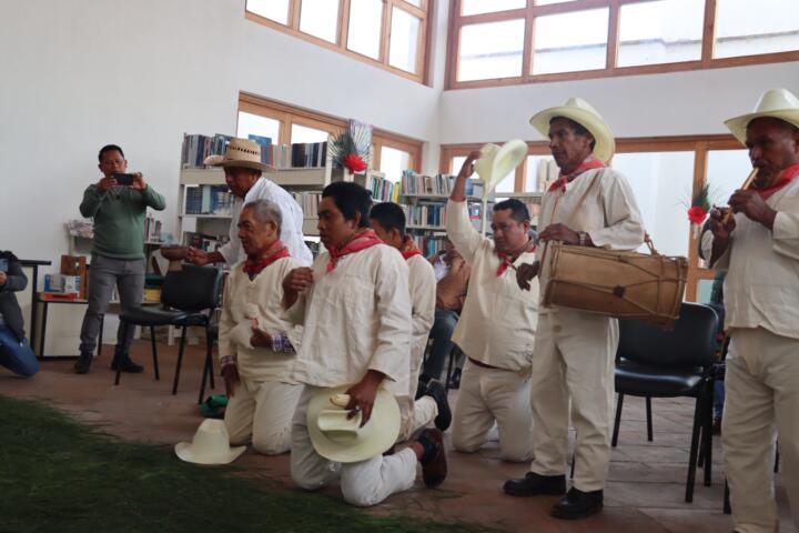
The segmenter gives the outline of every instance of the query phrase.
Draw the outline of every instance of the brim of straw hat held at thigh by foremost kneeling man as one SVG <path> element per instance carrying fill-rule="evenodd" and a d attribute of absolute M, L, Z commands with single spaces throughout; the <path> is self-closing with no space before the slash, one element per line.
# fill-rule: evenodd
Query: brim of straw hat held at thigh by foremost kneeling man
<path fill-rule="evenodd" d="M 334 389 L 317 391 L 307 406 L 307 431 L 316 453 L 337 463 L 357 463 L 375 457 L 396 443 L 400 436 L 400 405 L 394 395 L 385 389 L 380 389 L 375 396 L 372 416 L 366 425 L 371 425 L 370 438 L 358 440 L 354 445 L 344 445 L 330 440 L 318 429 L 316 420 L 322 410 L 332 406 L 330 399 L 335 394 L 343 394 L 352 385 L 342 385 Z"/>

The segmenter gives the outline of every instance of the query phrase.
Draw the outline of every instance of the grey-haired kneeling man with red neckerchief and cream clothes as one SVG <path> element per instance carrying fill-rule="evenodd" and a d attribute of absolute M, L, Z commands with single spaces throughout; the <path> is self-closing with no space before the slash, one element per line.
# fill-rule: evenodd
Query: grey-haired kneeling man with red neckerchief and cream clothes
<path fill-rule="evenodd" d="M 289 451 L 302 384 L 292 375 L 301 331 L 282 318 L 283 279 L 302 263 L 281 233 L 281 211 L 267 200 L 247 203 L 237 237 L 247 259 L 224 286 L 219 353 L 229 396 L 224 423 L 233 444 L 252 442 L 267 455 Z"/>

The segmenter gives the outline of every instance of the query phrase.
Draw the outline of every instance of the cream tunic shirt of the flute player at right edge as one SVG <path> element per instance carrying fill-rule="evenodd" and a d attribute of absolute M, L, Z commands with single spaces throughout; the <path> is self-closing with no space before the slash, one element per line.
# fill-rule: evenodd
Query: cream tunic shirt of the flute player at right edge
<path fill-rule="evenodd" d="M 777 211 L 773 231 L 737 213 L 729 247 L 711 265 L 727 271 L 725 328 L 763 328 L 799 339 L 799 179 L 766 203 Z M 712 233 L 706 232 L 706 258 L 712 240 Z"/>

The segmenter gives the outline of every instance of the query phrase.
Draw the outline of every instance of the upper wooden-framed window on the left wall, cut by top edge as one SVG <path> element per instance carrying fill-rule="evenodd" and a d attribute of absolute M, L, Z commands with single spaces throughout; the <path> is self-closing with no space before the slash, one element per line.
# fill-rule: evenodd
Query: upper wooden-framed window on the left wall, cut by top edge
<path fill-rule="evenodd" d="M 246 0 L 245 17 L 419 83 L 434 0 Z"/>

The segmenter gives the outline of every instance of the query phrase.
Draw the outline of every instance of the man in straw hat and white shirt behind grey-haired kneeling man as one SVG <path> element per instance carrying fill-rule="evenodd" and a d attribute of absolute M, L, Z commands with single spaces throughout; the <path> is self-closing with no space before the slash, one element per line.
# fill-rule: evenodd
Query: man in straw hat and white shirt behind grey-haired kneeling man
<path fill-rule="evenodd" d="M 225 182 L 239 200 L 233 205 L 230 241 L 219 251 L 205 252 L 189 249 L 188 260 L 194 264 L 227 263 L 234 265 L 244 261 L 246 253 L 239 241 L 239 214 L 242 207 L 255 200 L 269 200 L 281 210 L 283 224 L 280 239 L 292 258 L 311 264 L 313 255 L 305 245 L 302 233 L 303 213 L 300 204 L 282 187 L 267 180 L 262 172 L 273 170 L 261 160 L 261 145 L 249 139 L 231 139 L 224 157 L 211 155 L 205 160 L 210 167 L 222 167 Z"/>

